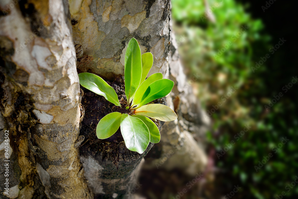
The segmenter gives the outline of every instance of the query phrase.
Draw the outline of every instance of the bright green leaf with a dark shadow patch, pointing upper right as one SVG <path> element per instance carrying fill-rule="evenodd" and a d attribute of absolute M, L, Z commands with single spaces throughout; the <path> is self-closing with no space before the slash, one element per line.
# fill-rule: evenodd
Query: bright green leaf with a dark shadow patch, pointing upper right
<path fill-rule="evenodd" d="M 150 101 L 163 98 L 171 92 L 173 89 L 174 82 L 169 79 L 160 79 L 149 85 L 148 89 L 145 91 L 142 102 L 136 107 L 139 108 L 144 104 L 148 104 Z M 134 109 L 136 109 L 134 108 Z"/>

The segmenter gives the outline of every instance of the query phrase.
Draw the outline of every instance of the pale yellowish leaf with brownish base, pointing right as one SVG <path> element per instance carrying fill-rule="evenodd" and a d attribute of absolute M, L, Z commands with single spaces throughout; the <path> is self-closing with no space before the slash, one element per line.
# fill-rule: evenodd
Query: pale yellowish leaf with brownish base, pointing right
<path fill-rule="evenodd" d="M 176 113 L 168 106 L 163 104 L 147 104 L 134 111 L 136 115 L 144 115 L 160 121 L 173 121 L 177 119 Z"/>

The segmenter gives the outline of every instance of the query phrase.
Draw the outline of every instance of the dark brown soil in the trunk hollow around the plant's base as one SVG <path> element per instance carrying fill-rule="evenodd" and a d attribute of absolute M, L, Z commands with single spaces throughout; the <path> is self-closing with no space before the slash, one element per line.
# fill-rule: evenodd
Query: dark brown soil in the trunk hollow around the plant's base
<path fill-rule="evenodd" d="M 133 114 L 133 111 L 125 109 L 127 105 L 127 99 L 124 91 L 124 82 L 121 77 L 116 78 L 115 82 L 106 81 L 111 87 L 114 88 L 118 95 L 118 99 L 121 104 L 121 108 L 115 106 L 111 102 L 107 101 L 103 96 L 97 95 L 94 92 L 87 90 L 81 86 L 83 90 L 83 97 L 81 100 L 81 104 L 85 109 L 85 115 L 83 121 L 81 123 L 80 135 L 85 136 L 85 140 L 81 144 L 81 149 L 87 149 L 88 152 L 91 153 L 102 153 L 100 156 L 103 158 L 108 158 L 110 161 L 114 162 L 117 166 L 119 163 L 119 153 L 129 153 L 128 156 L 140 156 L 137 152 L 129 151 L 124 143 L 124 140 L 121 135 L 120 128 L 117 132 L 107 139 L 98 139 L 96 136 L 96 127 L 98 122 L 105 116 L 111 112 L 121 112 Z M 157 99 L 150 104 L 166 104 L 164 99 Z M 160 129 L 164 124 L 162 121 L 154 120 L 152 121 L 156 124 L 156 126 Z M 87 146 L 86 146 L 87 145 Z M 152 143 L 149 144 L 148 148 L 150 149 L 153 146 Z M 147 154 L 149 150 L 144 152 Z M 86 151 L 87 152 L 87 151 Z M 144 155 L 145 155 L 144 154 Z M 142 154 L 143 155 L 143 154 Z M 141 156 L 142 156 L 141 155 Z M 125 155 L 123 154 L 123 159 L 125 159 Z M 124 160 L 125 161 L 125 160 Z"/>

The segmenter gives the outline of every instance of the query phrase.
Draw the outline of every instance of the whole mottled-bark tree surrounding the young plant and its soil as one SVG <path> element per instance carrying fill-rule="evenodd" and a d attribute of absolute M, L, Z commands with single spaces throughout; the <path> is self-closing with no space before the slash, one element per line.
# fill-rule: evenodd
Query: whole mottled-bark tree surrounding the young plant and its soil
<path fill-rule="evenodd" d="M 148 75 L 161 72 L 175 82 L 166 101 L 178 120 L 163 126 L 158 147 L 160 156 L 176 146 L 179 150 L 164 166 L 190 174 L 204 168 L 201 140 L 195 138 L 204 137 L 207 125 L 197 114 L 200 107 L 170 38 L 170 1 L 7 0 L 0 8 L 0 182 L 5 182 L 4 160 L 10 160 L 10 198 L 133 197 L 142 158 L 153 144 L 141 155 L 120 141 L 108 146 L 117 139 L 102 141 L 105 150 L 92 148 L 98 140 L 90 129 L 89 134 L 82 130 L 91 113 L 81 104 L 87 95 L 80 92 L 77 76 L 92 72 L 123 81 L 132 37 L 142 53 L 153 54 Z M 9 131 L 8 158 L 4 130 Z M 152 158 L 146 166 L 158 161 Z M 4 186 L 0 191 L 0 198 L 7 198 Z"/>

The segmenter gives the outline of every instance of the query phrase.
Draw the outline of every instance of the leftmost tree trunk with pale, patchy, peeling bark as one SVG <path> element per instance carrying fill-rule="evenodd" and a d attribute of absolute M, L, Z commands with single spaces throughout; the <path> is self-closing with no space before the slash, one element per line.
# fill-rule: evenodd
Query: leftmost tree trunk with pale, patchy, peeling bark
<path fill-rule="evenodd" d="M 58 0 L 13 3 L 1 1 L 0 16 L 1 113 L 12 149 L 0 159 L 11 160 L 10 194 L 91 198 L 76 144 L 80 85 L 68 8 Z"/>

